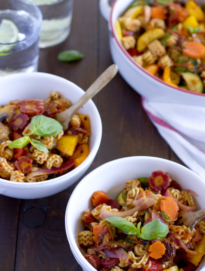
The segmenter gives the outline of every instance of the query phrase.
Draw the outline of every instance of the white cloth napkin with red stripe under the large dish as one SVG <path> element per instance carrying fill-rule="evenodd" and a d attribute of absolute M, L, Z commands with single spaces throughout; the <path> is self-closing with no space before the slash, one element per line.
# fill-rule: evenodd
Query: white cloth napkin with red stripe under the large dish
<path fill-rule="evenodd" d="M 205 107 L 144 97 L 142 106 L 179 159 L 205 181 Z"/>

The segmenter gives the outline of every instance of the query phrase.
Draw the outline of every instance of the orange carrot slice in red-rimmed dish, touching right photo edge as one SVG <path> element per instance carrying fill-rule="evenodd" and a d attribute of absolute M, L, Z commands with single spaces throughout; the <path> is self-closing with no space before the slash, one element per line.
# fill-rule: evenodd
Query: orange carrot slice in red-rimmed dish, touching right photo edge
<path fill-rule="evenodd" d="M 182 54 L 194 59 L 204 58 L 205 46 L 201 42 L 186 42 Z"/>

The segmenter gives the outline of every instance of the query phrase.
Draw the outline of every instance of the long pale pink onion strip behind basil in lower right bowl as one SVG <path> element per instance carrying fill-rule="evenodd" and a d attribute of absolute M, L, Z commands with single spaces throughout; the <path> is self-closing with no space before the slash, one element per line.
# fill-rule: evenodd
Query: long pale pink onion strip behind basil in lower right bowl
<path fill-rule="evenodd" d="M 104 219 L 110 216 L 120 216 L 124 218 L 126 216 L 132 216 L 136 211 L 141 212 L 143 210 L 146 210 L 150 206 L 152 206 L 155 203 L 155 200 L 153 198 L 147 198 L 146 200 L 144 200 L 144 198 L 143 200 L 142 198 L 139 198 L 139 200 L 136 200 L 136 202 L 138 202 L 140 205 L 127 211 L 119 212 L 119 211 L 113 211 L 113 210 L 104 210 L 100 214 L 100 218 Z"/>

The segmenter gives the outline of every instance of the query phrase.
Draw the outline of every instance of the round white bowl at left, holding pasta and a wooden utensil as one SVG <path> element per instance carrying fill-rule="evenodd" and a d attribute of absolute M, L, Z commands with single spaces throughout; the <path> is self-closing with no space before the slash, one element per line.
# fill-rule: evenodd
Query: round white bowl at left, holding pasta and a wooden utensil
<path fill-rule="evenodd" d="M 74 83 L 49 73 L 17 73 L 0 79 L 0 104 L 8 104 L 9 101 L 15 99 L 46 100 L 52 91 L 61 93 L 71 103 L 77 101 L 85 93 Z M 87 114 L 91 124 L 90 154 L 84 162 L 69 173 L 43 182 L 11 182 L 0 178 L 0 194 L 22 199 L 47 197 L 68 188 L 86 172 L 99 149 L 102 122 L 92 100 L 87 101 L 78 112 Z"/>

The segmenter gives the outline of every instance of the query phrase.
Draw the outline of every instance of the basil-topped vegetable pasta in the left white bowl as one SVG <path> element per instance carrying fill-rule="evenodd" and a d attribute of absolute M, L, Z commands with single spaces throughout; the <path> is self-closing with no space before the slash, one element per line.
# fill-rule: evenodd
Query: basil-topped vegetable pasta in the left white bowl
<path fill-rule="evenodd" d="M 61 176 L 89 155 L 90 119 L 75 114 L 68 130 L 55 120 L 71 102 L 58 92 L 46 101 L 15 100 L 0 106 L 0 177 L 39 182 Z"/>

